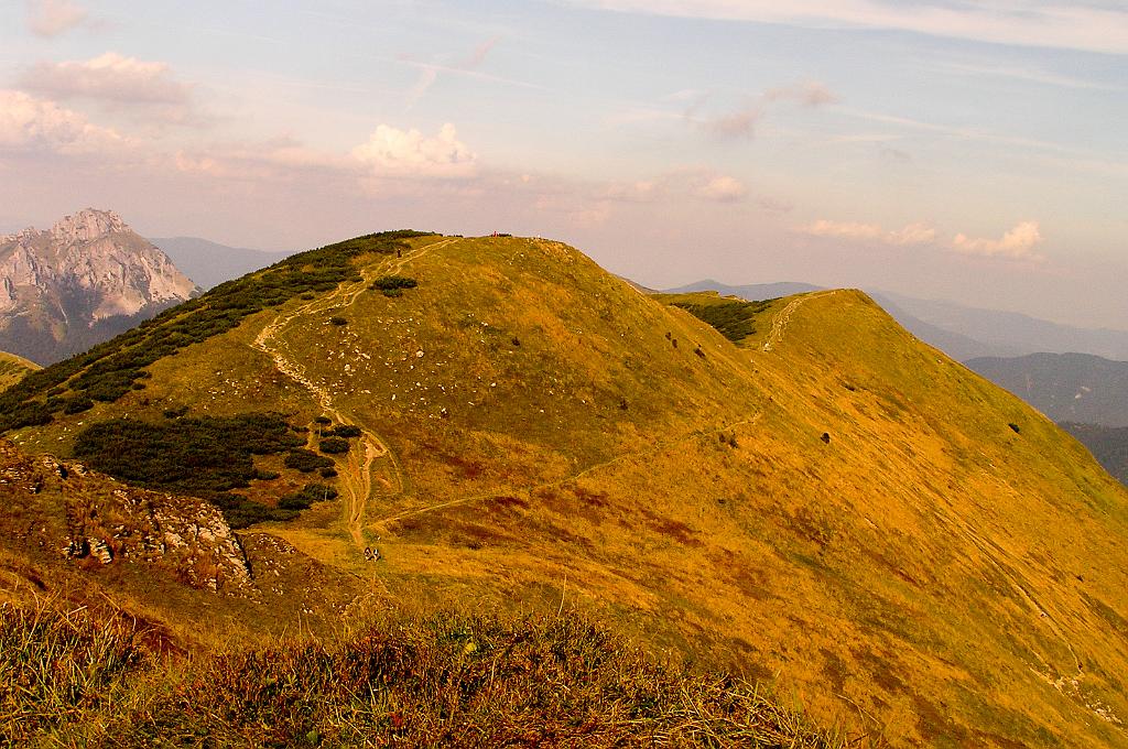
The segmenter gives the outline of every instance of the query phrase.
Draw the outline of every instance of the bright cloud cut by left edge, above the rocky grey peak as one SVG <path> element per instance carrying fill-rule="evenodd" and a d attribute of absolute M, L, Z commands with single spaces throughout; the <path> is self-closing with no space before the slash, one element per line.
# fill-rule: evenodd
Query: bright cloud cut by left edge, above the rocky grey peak
<path fill-rule="evenodd" d="M 121 135 L 24 91 L 0 89 L 0 149 L 90 153 L 121 146 Z"/>

